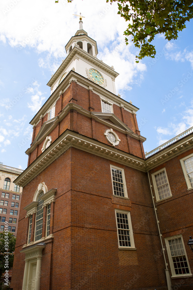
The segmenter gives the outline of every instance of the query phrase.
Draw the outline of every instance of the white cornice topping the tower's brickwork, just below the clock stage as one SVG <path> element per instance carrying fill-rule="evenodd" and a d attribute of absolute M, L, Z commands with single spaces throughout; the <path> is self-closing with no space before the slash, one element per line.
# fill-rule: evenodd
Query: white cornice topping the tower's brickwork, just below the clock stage
<path fill-rule="evenodd" d="M 136 113 L 139 110 L 137 107 L 126 102 L 124 99 L 121 99 L 120 97 L 114 95 L 108 90 L 102 88 L 101 86 L 95 84 L 89 79 L 86 79 L 85 77 L 71 70 L 68 73 L 68 75 L 65 77 L 65 79 L 62 81 L 62 83 L 58 86 L 58 88 L 56 88 L 54 93 L 49 97 L 49 99 L 41 107 L 38 113 L 34 116 L 34 118 L 30 121 L 31 125 L 37 124 L 39 122 L 40 116 L 44 115 L 47 112 L 49 107 L 52 106 L 52 104 L 58 98 L 58 95 L 60 94 L 60 92 L 62 90 L 64 91 L 69 86 L 72 80 L 76 81 L 77 84 L 87 88 L 88 90 L 92 87 L 92 90 L 95 94 L 102 95 L 104 98 L 108 98 L 109 100 L 112 100 L 113 102 L 116 102 L 117 104 L 120 104 L 120 105 L 122 104 L 125 110 L 130 110 L 130 111 L 133 111 L 134 113 Z"/>

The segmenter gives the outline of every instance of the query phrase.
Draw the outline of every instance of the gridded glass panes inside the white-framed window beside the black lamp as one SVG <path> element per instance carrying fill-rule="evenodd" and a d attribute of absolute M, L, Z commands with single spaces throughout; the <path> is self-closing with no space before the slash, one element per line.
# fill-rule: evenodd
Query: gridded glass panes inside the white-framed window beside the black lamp
<path fill-rule="evenodd" d="M 190 271 L 181 238 L 168 240 L 168 243 L 176 275 L 189 274 Z"/>

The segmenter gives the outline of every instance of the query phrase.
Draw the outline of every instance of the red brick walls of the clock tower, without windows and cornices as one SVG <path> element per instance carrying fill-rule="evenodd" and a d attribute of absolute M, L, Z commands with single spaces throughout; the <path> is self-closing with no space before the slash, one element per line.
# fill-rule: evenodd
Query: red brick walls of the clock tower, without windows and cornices
<path fill-rule="evenodd" d="M 56 102 L 55 116 L 57 113 L 60 116 L 61 104 L 63 110 L 69 102 L 89 112 L 91 107 L 92 111 L 101 112 L 100 97 L 74 81 Z M 122 108 L 115 104 L 113 111 L 134 133 L 138 130 L 132 113 L 126 110 L 122 113 Z M 45 121 L 47 114 L 43 117 Z M 43 122 L 34 127 L 33 139 Z M 71 130 L 111 148 L 104 136 L 109 128 L 110 120 L 106 126 L 73 109 L 49 135 L 54 143 L 66 130 Z M 144 159 L 140 140 L 114 131 L 121 139 L 117 150 Z M 28 166 L 43 154 L 43 142 L 30 153 Z M 110 164 L 124 169 L 129 200 L 113 195 Z M 25 218 L 23 208 L 33 201 L 41 182 L 45 182 L 48 190 L 57 188 L 57 191 L 51 204 L 54 238 L 45 240 L 42 251 L 40 290 L 167 289 L 147 173 L 70 146 L 23 187 L 13 290 L 22 289 L 25 268 L 25 254 L 20 251 L 26 244 L 29 218 Z M 130 211 L 136 250 L 118 249 L 115 209 Z"/>

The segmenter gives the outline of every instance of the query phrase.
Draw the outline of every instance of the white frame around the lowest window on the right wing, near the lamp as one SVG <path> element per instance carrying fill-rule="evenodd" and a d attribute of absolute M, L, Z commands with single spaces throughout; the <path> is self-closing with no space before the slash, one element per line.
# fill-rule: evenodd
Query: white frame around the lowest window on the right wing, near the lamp
<path fill-rule="evenodd" d="M 170 252 L 170 246 L 169 246 L 169 242 L 168 241 L 169 240 L 174 240 L 176 238 L 181 238 L 182 239 L 184 253 L 185 253 L 186 261 L 187 261 L 187 264 L 188 264 L 188 269 L 189 269 L 189 272 L 190 272 L 189 274 L 176 275 L 176 273 L 175 273 L 174 263 L 173 263 L 173 260 L 172 260 L 172 256 L 171 256 L 171 252 Z M 188 257 L 187 257 L 187 254 L 186 254 L 186 249 L 185 249 L 185 246 L 184 246 L 184 241 L 183 241 L 182 235 L 175 235 L 175 236 L 172 236 L 172 237 L 165 238 L 165 243 L 166 243 L 166 249 L 167 249 L 168 258 L 169 258 L 169 262 L 170 262 L 170 269 L 171 269 L 171 272 L 172 272 L 171 278 L 180 278 L 180 277 L 190 277 L 190 276 L 192 276 L 192 272 L 191 272 L 191 269 L 190 269 L 190 264 L 188 262 Z"/>

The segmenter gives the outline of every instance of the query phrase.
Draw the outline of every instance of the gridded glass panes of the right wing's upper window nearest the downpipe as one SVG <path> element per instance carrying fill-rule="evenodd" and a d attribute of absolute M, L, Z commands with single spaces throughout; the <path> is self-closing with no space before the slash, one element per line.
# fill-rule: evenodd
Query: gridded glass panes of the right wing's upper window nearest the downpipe
<path fill-rule="evenodd" d="M 171 195 L 170 189 L 168 186 L 168 181 L 166 178 L 165 171 L 157 173 L 155 176 L 155 182 L 157 186 L 157 191 L 159 194 L 159 199 L 162 200 Z"/>

